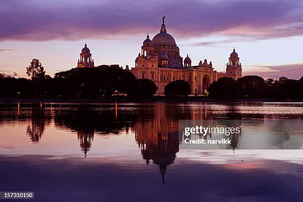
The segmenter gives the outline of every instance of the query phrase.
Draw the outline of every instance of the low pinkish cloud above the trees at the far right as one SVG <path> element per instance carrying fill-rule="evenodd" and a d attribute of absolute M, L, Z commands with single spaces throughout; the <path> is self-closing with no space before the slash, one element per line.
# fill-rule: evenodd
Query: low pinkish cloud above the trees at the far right
<path fill-rule="evenodd" d="M 243 75 L 257 75 L 263 78 L 278 79 L 282 76 L 300 79 L 303 76 L 303 63 L 283 65 L 253 65 L 252 70 L 243 71 Z"/>

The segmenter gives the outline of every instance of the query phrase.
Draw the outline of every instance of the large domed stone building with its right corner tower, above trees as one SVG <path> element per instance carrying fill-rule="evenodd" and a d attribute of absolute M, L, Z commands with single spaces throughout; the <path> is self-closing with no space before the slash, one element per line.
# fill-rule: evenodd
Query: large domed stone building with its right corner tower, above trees
<path fill-rule="evenodd" d="M 141 53 L 135 59 L 135 67 L 130 71 L 138 79 L 152 80 L 158 87 L 156 95 L 164 95 L 164 87 L 171 81 L 187 81 L 191 85 L 192 94 L 202 95 L 212 82 L 221 77 L 234 80 L 242 77 L 242 65 L 235 49 L 230 54 L 226 73 L 214 70 L 212 62 L 208 63 L 206 59 L 203 62 L 200 61 L 198 65 L 192 65 L 192 60 L 188 55 L 183 60 L 176 41 L 166 32 L 164 17 L 160 33 L 152 40 L 147 35 L 141 47 Z"/>

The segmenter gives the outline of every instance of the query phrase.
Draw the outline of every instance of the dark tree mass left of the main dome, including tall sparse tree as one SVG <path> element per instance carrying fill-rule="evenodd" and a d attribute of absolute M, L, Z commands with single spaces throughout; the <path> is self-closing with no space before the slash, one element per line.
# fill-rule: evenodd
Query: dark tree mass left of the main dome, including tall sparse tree
<path fill-rule="evenodd" d="M 0 76 L 1 98 L 98 99 L 121 92 L 131 97 L 147 97 L 157 91 L 152 81 L 136 79 L 120 67 L 72 68 L 51 78 L 40 61 L 33 59 L 26 69 L 31 79 Z"/>

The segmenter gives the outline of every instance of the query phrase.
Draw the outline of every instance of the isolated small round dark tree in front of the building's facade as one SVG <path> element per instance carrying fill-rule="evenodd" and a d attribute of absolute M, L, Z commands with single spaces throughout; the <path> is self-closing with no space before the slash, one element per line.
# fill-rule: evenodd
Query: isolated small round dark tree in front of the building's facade
<path fill-rule="evenodd" d="M 183 80 L 169 82 L 164 88 L 165 96 L 188 96 L 190 94 L 191 86 Z"/>

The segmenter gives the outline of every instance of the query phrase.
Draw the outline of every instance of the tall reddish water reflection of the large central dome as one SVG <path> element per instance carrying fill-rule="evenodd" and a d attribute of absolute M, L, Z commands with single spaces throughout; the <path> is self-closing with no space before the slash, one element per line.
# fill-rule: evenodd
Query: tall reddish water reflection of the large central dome
<path fill-rule="evenodd" d="M 171 116 L 172 108 L 163 102 L 155 103 L 152 119 L 136 122 L 135 138 L 147 165 L 152 160 L 159 166 L 162 182 L 168 165 L 174 163 L 179 152 L 178 119 Z"/>

